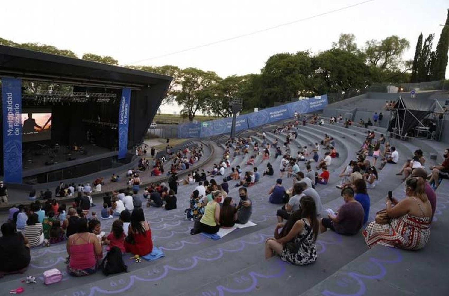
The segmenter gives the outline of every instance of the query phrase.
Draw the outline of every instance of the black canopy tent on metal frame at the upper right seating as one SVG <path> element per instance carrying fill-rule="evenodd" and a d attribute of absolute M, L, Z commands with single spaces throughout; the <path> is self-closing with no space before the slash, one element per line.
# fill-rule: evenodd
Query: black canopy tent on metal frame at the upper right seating
<path fill-rule="evenodd" d="M 410 137 L 415 127 L 427 128 L 423 119 L 433 113 L 435 107 L 436 102 L 432 100 L 399 96 L 391 110 L 387 131 L 398 137 Z"/>

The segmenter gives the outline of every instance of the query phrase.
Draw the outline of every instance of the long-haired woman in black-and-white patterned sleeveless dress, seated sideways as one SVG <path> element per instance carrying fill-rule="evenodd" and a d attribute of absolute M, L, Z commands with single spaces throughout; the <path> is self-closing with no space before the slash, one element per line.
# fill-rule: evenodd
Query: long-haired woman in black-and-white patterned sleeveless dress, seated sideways
<path fill-rule="evenodd" d="M 317 235 L 319 222 L 315 201 L 310 196 L 300 200 L 300 209 L 294 212 L 287 223 L 279 223 L 274 231 L 274 238 L 265 242 L 265 259 L 275 254 L 281 256 L 283 261 L 294 265 L 308 265 L 317 260 Z M 279 233 L 279 229 L 282 228 Z M 289 247 L 293 243 L 297 251 Z"/>

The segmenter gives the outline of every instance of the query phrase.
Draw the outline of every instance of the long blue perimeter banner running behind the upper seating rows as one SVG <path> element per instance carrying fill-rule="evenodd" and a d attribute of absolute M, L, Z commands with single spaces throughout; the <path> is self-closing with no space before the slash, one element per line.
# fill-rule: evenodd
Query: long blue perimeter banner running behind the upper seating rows
<path fill-rule="evenodd" d="M 236 131 L 247 128 L 255 128 L 263 124 L 269 124 L 278 120 L 293 118 L 295 112 L 300 114 L 322 110 L 327 106 L 327 95 L 304 98 L 297 102 L 271 107 L 259 112 L 252 112 L 237 116 Z M 230 133 L 232 118 L 209 120 L 198 124 L 188 123 L 178 126 L 178 138 L 210 137 L 224 133 Z"/>

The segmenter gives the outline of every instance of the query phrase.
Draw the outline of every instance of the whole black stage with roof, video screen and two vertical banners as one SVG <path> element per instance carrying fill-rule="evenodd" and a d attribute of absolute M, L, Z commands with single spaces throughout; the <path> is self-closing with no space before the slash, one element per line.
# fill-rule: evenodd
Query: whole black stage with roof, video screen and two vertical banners
<path fill-rule="evenodd" d="M 172 80 L 3 45 L 0 64 L 0 180 L 16 190 L 54 188 L 132 165 Z"/>

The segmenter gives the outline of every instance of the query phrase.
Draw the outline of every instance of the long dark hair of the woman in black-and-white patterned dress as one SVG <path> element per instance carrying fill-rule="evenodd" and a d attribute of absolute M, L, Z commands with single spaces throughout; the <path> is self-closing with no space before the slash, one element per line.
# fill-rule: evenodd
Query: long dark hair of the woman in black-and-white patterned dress
<path fill-rule="evenodd" d="M 293 228 L 293 225 L 295 225 L 296 221 L 302 219 L 302 218 L 309 218 L 310 219 L 310 226 L 313 231 L 313 241 L 317 240 L 318 231 L 320 229 L 320 225 L 318 225 L 317 220 L 317 206 L 315 205 L 315 201 L 310 196 L 303 196 L 301 200 L 299 201 L 301 208 L 298 211 L 295 211 L 290 218 L 288 218 L 286 224 L 281 230 L 280 237 L 286 236 L 290 230 Z"/>

